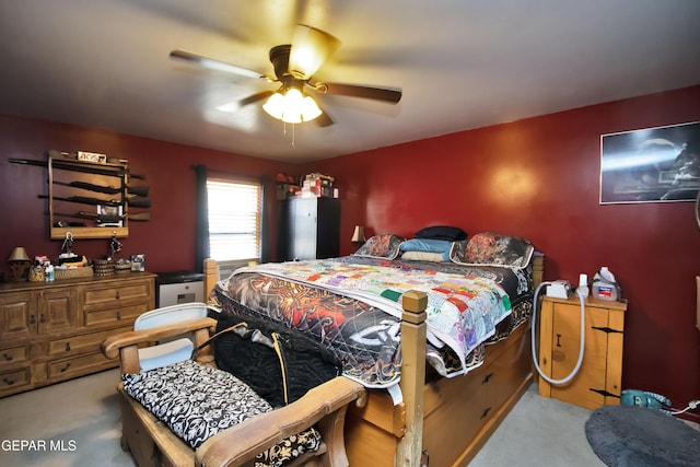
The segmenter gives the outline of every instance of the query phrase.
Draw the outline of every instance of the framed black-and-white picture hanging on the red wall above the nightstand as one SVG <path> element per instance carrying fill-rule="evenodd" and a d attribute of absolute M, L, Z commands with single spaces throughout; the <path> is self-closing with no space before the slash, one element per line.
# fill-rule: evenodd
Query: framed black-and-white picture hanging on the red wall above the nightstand
<path fill-rule="evenodd" d="M 700 121 L 600 137 L 600 203 L 695 201 Z"/>

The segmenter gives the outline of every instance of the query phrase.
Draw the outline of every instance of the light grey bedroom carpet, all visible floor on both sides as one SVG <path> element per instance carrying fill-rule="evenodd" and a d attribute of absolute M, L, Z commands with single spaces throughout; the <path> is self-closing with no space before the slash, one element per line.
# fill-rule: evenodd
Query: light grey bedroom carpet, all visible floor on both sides
<path fill-rule="evenodd" d="M 0 465 L 133 467 L 119 446 L 118 378 L 109 370 L 0 399 Z M 532 385 L 470 467 L 604 466 L 586 441 L 590 415 L 539 397 Z M 13 451 L 8 444 L 22 441 L 34 442 L 34 448 Z"/>

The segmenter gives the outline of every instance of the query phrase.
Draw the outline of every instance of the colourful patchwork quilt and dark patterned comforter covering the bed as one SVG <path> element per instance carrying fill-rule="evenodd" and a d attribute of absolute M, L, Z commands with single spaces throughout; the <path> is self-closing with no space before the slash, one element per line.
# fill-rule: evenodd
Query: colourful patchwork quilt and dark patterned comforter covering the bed
<path fill-rule="evenodd" d="M 311 334 L 336 352 L 346 376 L 366 387 L 388 387 L 400 377 L 404 292 L 428 294 L 428 360 L 448 377 L 479 362 L 483 342 L 512 313 L 509 294 L 493 278 L 359 259 L 242 268 L 213 296 L 224 313 L 262 316 Z M 522 282 L 511 281 L 515 288 Z"/>

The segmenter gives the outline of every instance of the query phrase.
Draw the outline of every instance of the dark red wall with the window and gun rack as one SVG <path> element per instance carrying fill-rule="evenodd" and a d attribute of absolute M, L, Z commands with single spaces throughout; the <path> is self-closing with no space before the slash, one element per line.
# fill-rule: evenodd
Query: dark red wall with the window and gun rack
<path fill-rule="evenodd" d="M 270 194 L 267 200 L 268 220 L 275 225 L 275 174 L 296 167 L 275 161 L 173 144 L 145 138 L 0 116 L 0 270 L 9 276 L 12 248 L 22 245 L 30 257 L 47 255 L 56 258 L 62 241 L 51 241 L 48 234 L 47 201 L 37 195 L 48 194 L 47 170 L 9 163 L 11 157 L 45 160 L 46 151 L 89 151 L 109 157 L 129 160 L 129 170 L 145 175 L 139 185 L 150 187 L 151 220 L 129 222 L 129 236 L 120 240 L 120 257 L 145 254 L 147 268 L 152 272 L 195 270 L 195 172 L 192 165 L 203 164 L 210 174 L 267 176 Z M 83 209 L 75 205 L 75 211 Z M 276 230 L 270 244 L 273 247 Z M 89 258 L 109 253 L 109 240 L 75 240 L 73 250 Z"/>

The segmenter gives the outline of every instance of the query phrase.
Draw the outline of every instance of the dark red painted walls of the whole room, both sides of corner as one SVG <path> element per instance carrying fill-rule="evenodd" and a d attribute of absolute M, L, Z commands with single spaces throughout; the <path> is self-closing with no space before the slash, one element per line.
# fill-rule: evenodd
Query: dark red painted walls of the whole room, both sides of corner
<path fill-rule="evenodd" d="M 153 218 L 131 222 L 124 254 L 144 253 L 154 272 L 194 268 L 192 164 L 273 177 L 320 171 L 340 189 L 341 254 L 355 224 L 368 234 L 411 236 L 431 224 L 470 234 L 529 238 L 547 255 L 546 279 L 578 281 L 608 266 L 629 300 L 623 387 L 667 395 L 677 407 L 700 397 L 700 332 L 695 277 L 700 232 L 691 202 L 598 203 L 603 133 L 700 120 L 700 86 L 447 135 L 295 166 L 69 125 L 0 116 L 0 258 L 23 245 L 31 256 L 60 253 L 48 240 L 46 171 L 8 163 L 47 149 L 105 152 L 147 175 Z M 273 199 L 270 199 L 275 245 Z M 77 241 L 89 257 L 106 240 Z M 2 256 L 3 255 L 3 256 Z M 7 262 L 0 260 L 0 270 Z M 696 418 L 697 420 L 697 418 Z"/>

